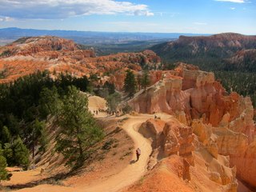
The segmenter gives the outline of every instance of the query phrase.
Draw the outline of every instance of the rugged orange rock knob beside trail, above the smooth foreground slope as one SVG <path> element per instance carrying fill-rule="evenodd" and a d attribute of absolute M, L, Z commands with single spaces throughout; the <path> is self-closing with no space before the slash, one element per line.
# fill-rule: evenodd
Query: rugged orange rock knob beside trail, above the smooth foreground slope
<path fill-rule="evenodd" d="M 149 169 L 152 169 L 159 158 L 166 158 L 178 154 L 194 165 L 194 134 L 190 126 L 171 118 L 168 122 L 160 119 L 149 119 L 142 123 L 138 130 L 144 137 L 151 140 L 154 152 L 151 154 Z"/>

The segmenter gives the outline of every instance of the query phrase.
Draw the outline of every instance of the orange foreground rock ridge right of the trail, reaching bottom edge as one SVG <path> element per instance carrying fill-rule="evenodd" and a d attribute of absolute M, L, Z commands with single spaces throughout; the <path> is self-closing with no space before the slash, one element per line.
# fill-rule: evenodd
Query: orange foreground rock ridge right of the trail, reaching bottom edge
<path fill-rule="evenodd" d="M 200 119 L 186 126 L 171 116 L 149 119 L 138 131 L 152 143 L 149 172 L 125 191 L 237 191 L 236 168 L 218 154 L 212 126 Z"/>

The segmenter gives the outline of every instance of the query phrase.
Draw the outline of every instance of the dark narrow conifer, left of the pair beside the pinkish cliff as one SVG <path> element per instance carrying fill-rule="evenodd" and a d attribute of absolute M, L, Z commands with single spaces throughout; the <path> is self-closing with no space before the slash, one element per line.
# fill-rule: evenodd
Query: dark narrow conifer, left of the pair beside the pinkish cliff
<path fill-rule="evenodd" d="M 124 90 L 128 93 L 128 96 L 131 98 L 136 93 L 136 81 L 134 73 L 131 70 L 126 70 L 126 78 L 124 83 Z"/>

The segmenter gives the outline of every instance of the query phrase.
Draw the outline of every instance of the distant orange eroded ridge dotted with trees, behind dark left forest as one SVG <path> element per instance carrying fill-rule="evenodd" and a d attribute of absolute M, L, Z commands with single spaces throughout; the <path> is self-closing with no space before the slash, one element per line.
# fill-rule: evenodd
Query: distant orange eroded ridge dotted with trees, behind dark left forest
<path fill-rule="evenodd" d="M 145 65 L 158 69 L 160 62 L 152 50 L 97 57 L 94 50 L 82 50 L 82 46 L 65 38 L 21 38 L 0 48 L 0 82 L 11 82 L 37 70 L 49 70 L 53 75 L 67 72 L 77 77 L 107 74 L 121 90 L 127 69 L 136 72 Z"/>

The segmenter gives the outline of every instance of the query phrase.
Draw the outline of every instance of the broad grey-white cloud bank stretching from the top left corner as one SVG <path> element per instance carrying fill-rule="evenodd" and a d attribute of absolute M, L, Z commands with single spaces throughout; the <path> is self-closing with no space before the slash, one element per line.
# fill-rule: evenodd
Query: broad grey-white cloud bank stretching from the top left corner
<path fill-rule="evenodd" d="M 0 16 L 10 18 L 69 18 L 90 14 L 153 16 L 148 6 L 115 0 L 0 0 Z"/>

